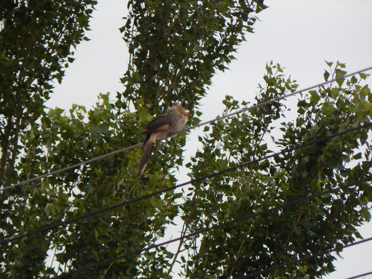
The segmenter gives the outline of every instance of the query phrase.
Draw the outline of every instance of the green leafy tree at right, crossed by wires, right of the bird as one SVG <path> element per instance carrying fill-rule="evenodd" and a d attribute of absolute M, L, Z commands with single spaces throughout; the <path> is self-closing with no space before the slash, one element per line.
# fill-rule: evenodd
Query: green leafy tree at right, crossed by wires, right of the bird
<path fill-rule="evenodd" d="M 343 71 L 342 68 L 344 65 L 338 62 L 331 69 L 333 77 Z M 260 86 L 257 103 L 296 89 L 294 81 L 283 76 L 280 65 L 270 63 L 266 70 L 266 85 Z M 273 103 L 248 115 L 211 124 L 209 133 L 199 137 L 202 150 L 189 164 L 192 177 L 270 154 L 267 135 L 272 138 L 272 148 L 285 149 L 370 121 L 368 99 L 372 94 L 368 86 L 360 85 L 366 76 L 361 73 L 359 79 L 341 80 L 305 94 L 297 103 L 298 115 L 294 122 L 279 123 L 288 109 L 284 104 Z M 230 96 L 224 104 L 225 113 L 238 108 L 238 102 Z M 196 183 L 195 190 L 190 188 L 191 193 L 184 196 L 182 205 L 183 219 L 190 219 L 188 232 L 370 175 L 368 132 L 369 129 L 362 129 Z M 190 261 L 183 262 L 183 275 L 190 278 L 241 276 L 351 243 L 360 237 L 357 227 L 371 219 L 371 191 L 370 183 L 362 183 L 186 241 Z M 197 240 L 201 241 L 198 245 Z M 324 255 L 264 273 L 262 278 L 320 278 L 334 270 L 334 259 L 330 254 Z"/>

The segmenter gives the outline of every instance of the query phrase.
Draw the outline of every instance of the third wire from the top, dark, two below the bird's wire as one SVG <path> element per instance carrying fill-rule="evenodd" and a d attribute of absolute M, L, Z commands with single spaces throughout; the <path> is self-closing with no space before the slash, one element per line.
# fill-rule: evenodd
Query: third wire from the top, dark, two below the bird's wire
<path fill-rule="evenodd" d="M 118 257 L 115 257 L 115 258 L 112 258 L 112 259 L 108 259 L 108 260 L 104 260 L 102 262 L 98 262 L 98 263 L 95 263 L 95 264 L 91 264 L 89 266 L 85 266 L 85 267 L 81 267 L 79 269 L 74 269 L 74 270 L 71 270 L 70 272 L 67 272 L 67 273 L 62 273 L 61 275 L 58 275 L 58 276 L 55 276 L 53 277 L 52 279 L 55 279 L 55 278 L 62 278 L 62 277 L 65 277 L 65 276 L 68 276 L 68 275 L 72 275 L 74 273 L 77 273 L 77 272 L 81 272 L 83 270 L 86 270 L 86 269 L 91 269 L 93 267 L 97 267 L 97 266 L 101 266 L 102 264 L 106 264 L 106 263 L 110 263 L 110 262 L 114 262 L 116 260 L 120 260 L 120 259 L 123 259 L 125 257 L 129 257 L 129 256 L 132 256 L 132 255 L 135 255 L 135 254 L 140 254 L 144 251 L 148 251 L 148 250 L 151 250 L 153 248 L 157 248 L 159 246 L 163 246 L 163 245 L 167 245 L 169 243 L 173 243 L 173 242 L 176 242 L 176 241 L 180 241 L 180 240 L 183 240 L 185 238 L 189 238 L 189 237 L 193 237 L 193 236 L 196 236 L 196 235 L 199 235 L 199 234 L 203 234 L 205 232 L 208 232 L 208 231 L 212 231 L 212 230 L 216 230 L 218 228 L 221 228 L 221 227 L 225 227 L 227 225 L 231 225 L 231 224 L 235 224 L 237 222 L 241 222 L 241 221 L 244 221 L 246 219 L 250 219 L 250 218 L 254 218 L 254 217 L 257 217 L 257 216 L 260 216 L 260 215 L 263 215 L 265 213 L 269 213 L 269 212 L 272 212 L 272 211 L 276 211 L 278 209 L 282 209 L 282 208 L 285 208 L 287 206 L 290 206 L 290 205 L 294 205 L 296 203 L 301 203 L 301 202 L 304 202 L 304 201 L 308 201 L 312 198 L 318 198 L 320 196 L 323 196 L 323 195 L 328 195 L 330 193 L 334 193 L 336 191 L 339 191 L 341 189 L 344 189 L 344 188 L 347 188 L 347 187 L 351 187 L 351 186 L 355 186 L 357 184 L 360 184 L 360 183 L 363 183 L 363 182 L 367 182 L 367 181 L 371 181 L 372 180 L 372 176 L 369 176 L 365 179 L 360 179 L 356 182 L 352 182 L 352 183 L 348 183 L 346 185 L 343 185 L 343 186 L 340 186 L 340 187 L 337 187 L 337 188 L 334 188 L 334 189 L 331 189 L 331 190 L 327 190 L 327 191 L 324 191 L 324 192 L 321 192 L 321 193 L 318 193 L 318 194 L 314 194 L 314 195 L 310 195 L 310 196 L 307 196 L 305 198 L 302 198 L 302 199 L 298 199 L 296 201 L 292 201 L 292 202 L 288 202 L 288 203 L 285 203 L 285 204 L 282 204 L 282 205 L 279 205 L 279 206 L 275 206 L 273 208 L 269 208 L 269 209 L 265 209 L 263 211 L 260 211 L 260 212 L 256 212 L 254 214 L 250 214 L 250 215 L 246 215 L 246 216 L 243 216 L 243 217 L 240 217 L 240 218 L 237 218 L 237 219 L 234 219 L 234 220 L 231 220 L 231 221 L 228 221 L 228 222 L 225 222 L 225 223 L 222 223 L 222 224 L 219 224 L 219 225 L 216 225 L 214 227 L 211 227 L 211 228 L 205 228 L 203 230 L 200 230 L 200 231 L 196 231 L 196 232 L 193 232 L 191 234 L 187 234 L 187 235 L 184 235 L 182 237 L 178 237 L 178 238 L 175 238 L 173 240 L 169 240 L 169 241 L 164 241 L 162 243 L 159 243 L 159 244 L 154 244 L 152 246 L 149 246 L 149 247 L 146 247 L 146 248 L 142 248 L 140 250 L 136 250 L 136 251 L 133 251 L 133 252 L 130 252 L 130 253 L 126 253 L 124 255 L 121 255 L 121 256 L 118 256 Z M 370 239 L 368 239 L 370 240 Z M 361 242 L 365 242 L 365 241 L 368 241 L 368 240 L 362 240 L 360 241 Z M 352 246 L 352 245 L 355 245 L 356 243 L 352 243 L 352 244 L 347 244 L 345 245 L 345 247 L 348 247 L 348 246 Z M 336 248 L 335 248 L 336 249 Z"/>

